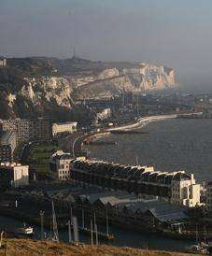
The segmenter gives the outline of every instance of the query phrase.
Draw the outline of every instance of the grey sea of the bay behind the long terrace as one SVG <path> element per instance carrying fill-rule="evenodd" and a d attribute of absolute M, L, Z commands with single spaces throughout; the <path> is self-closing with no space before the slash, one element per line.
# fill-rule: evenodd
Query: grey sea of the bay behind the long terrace
<path fill-rule="evenodd" d="M 167 120 L 142 128 L 148 135 L 109 135 L 117 146 L 90 146 L 90 157 L 121 164 L 153 165 L 156 170 L 194 173 L 212 180 L 212 120 Z M 103 138 L 101 138 L 102 140 Z"/>

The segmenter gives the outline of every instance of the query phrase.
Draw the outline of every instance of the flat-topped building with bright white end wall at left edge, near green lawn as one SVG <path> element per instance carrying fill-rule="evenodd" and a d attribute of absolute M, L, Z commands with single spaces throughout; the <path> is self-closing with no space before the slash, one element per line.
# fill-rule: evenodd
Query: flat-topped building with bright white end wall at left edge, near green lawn
<path fill-rule="evenodd" d="M 16 163 L 0 164 L 1 189 L 19 188 L 29 184 L 29 166 Z"/>

